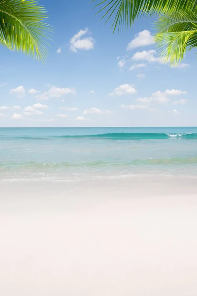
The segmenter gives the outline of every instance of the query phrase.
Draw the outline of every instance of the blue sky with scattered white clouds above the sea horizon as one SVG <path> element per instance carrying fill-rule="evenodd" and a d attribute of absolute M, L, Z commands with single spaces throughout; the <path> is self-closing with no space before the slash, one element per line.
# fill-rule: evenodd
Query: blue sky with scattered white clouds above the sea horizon
<path fill-rule="evenodd" d="M 87 0 L 40 4 L 55 28 L 45 65 L 0 47 L 1 127 L 197 126 L 195 52 L 164 64 L 153 18 L 113 35 Z"/>

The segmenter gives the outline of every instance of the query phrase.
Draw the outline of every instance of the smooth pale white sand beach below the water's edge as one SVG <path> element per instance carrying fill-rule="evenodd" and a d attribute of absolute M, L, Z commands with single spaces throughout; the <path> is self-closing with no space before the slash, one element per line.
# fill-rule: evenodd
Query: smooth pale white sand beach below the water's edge
<path fill-rule="evenodd" d="M 196 296 L 196 178 L 1 182 L 0 295 Z"/>

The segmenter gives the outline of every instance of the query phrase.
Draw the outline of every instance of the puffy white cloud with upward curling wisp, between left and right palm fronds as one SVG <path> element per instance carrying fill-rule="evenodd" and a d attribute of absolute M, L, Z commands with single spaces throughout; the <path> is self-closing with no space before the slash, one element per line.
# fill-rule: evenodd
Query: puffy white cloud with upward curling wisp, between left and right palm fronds
<path fill-rule="evenodd" d="M 90 50 L 94 48 L 95 40 L 92 37 L 84 37 L 88 33 L 88 28 L 80 30 L 70 39 L 70 50 L 77 52 L 77 49 Z"/>

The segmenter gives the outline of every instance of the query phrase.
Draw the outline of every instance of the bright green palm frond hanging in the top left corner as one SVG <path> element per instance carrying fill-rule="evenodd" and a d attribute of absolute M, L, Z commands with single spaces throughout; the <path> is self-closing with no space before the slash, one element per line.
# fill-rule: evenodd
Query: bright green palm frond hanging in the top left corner
<path fill-rule="evenodd" d="M 44 61 L 53 29 L 36 0 L 0 0 L 0 43 Z"/>

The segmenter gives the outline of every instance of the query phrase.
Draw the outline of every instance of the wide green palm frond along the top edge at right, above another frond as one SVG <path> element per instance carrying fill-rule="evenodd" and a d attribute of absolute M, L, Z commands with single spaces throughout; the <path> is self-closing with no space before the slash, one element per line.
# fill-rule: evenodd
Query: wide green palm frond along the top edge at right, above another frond
<path fill-rule="evenodd" d="M 93 0 L 96 2 L 98 0 Z M 101 7 L 99 12 L 105 12 L 107 21 L 114 16 L 112 27 L 120 28 L 125 24 L 131 27 L 138 16 L 165 14 L 172 10 L 190 10 L 197 13 L 197 0 L 103 0 L 95 5 Z M 99 13 L 98 12 L 98 13 Z"/>

